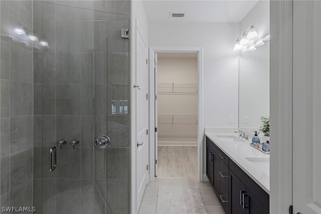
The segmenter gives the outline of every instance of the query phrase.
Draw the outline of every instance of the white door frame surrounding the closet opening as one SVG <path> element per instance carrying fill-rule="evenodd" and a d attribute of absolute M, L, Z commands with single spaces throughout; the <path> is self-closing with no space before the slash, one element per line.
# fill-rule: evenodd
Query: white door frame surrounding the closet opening
<path fill-rule="evenodd" d="M 203 181 L 203 48 L 198 47 L 150 47 L 149 48 L 149 181 L 155 180 L 155 106 L 154 106 L 154 56 L 155 53 L 197 53 L 198 70 L 198 124 L 197 159 L 198 180 Z"/>

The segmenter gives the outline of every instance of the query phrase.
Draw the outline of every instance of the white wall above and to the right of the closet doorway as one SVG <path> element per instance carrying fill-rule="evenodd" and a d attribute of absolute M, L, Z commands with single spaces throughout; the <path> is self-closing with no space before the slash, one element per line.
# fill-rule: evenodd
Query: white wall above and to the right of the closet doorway
<path fill-rule="evenodd" d="M 204 126 L 238 126 L 237 23 L 148 23 L 150 47 L 202 47 Z M 229 123 L 233 116 L 233 123 Z"/>

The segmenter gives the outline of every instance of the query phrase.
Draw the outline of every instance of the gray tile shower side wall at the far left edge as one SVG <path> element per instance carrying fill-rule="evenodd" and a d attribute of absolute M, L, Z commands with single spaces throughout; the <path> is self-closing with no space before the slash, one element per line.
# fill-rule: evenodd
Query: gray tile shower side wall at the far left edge
<path fill-rule="evenodd" d="M 32 1 L 0 2 L 0 203 L 33 205 L 33 49 L 11 39 L 17 23 L 33 32 Z"/>

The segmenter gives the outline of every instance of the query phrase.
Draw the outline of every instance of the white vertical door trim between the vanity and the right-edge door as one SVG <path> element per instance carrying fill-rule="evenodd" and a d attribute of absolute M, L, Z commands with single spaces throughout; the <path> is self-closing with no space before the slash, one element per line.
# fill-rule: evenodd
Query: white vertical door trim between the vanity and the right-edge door
<path fill-rule="evenodd" d="M 293 1 L 270 1 L 270 213 L 292 204 Z"/>

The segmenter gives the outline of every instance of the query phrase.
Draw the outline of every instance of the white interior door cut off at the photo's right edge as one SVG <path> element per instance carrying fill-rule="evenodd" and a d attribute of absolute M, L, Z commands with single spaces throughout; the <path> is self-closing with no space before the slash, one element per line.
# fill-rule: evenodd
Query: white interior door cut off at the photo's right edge
<path fill-rule="evenodd" d="M 320 11 L 293 1 L 293 213 L 321 213 Z"/>

